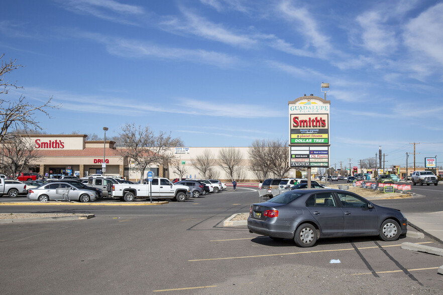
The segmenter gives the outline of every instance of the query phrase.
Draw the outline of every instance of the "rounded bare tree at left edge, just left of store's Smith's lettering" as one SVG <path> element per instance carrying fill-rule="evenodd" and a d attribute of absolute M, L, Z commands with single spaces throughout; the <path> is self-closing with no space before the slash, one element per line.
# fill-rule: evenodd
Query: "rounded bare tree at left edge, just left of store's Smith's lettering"
<path fill-rule="evenodd" d="M 2 167 L 7 175 L 17 178 L 17 173 L 30 168 L 41 156 L 34 144 L 18 133 L 9 133 L 2 142 Z"/>

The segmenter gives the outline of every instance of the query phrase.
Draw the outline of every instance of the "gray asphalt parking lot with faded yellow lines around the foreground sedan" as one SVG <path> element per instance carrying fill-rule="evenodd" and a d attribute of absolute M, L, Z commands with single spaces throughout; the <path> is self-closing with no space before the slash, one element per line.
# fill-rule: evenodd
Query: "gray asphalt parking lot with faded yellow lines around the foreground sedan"
<path fill-rule="evenodd" d="M 443 247 L 429 238 L 320 239 L 299 248 L 292 240 L 251 234 L 246 226 L 223 227 L 226 218 L 248 212 L 258 199 L 256 190 L 240 188 L 158 206 L 1 207 L 2 213 L 96 217 L 1 225 L 0 267 L 8 271 L 0 292 L 443 293 L 443 276 L 437 274 L 443 257 L 400 247 Z"/>

